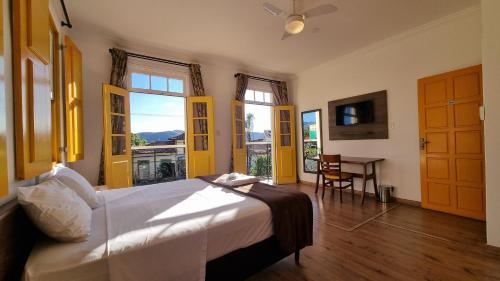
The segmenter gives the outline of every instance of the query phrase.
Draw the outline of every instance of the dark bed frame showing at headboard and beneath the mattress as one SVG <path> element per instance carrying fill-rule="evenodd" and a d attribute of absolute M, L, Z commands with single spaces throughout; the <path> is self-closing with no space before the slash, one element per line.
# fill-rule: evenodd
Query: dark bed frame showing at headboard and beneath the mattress
<path fill-rule="evenodd" d="M 20 280 L 24 265 L 43 234 L 31 223 L 16 199 L 0 206 L 0 281 Z M 243 280 L 289 256 L 275 236 L 209 261 L 206 280 Z M 300 250 L 295 252 L 298 263 Z"/>

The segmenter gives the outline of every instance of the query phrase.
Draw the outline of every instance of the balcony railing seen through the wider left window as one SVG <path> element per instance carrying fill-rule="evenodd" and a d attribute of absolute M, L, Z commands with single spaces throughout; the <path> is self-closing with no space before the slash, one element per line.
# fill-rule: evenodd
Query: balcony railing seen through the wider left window
<path fill-rule="evenodd" d="M 146 185 L 186 178 L 186 146 L 132 147 L 134 185 Z"/>

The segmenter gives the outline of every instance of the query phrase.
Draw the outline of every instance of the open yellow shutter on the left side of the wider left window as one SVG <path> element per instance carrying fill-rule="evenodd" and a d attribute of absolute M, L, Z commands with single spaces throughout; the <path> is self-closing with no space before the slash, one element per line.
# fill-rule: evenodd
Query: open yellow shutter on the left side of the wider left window
<path fill-rule="evenodd" d="M 132 186 L 130 101 L 126 89 L 103 85 L 104 178 L 108 188 Z"/>

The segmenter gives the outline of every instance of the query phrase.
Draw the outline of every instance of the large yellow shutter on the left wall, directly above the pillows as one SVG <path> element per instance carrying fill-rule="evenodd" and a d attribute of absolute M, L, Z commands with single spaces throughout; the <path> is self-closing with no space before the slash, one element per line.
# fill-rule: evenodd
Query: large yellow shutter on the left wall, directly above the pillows
<path fill-rule="evenodd" d="M 12 1 L 16 176 L 52 168 L 48 0 Z"/>

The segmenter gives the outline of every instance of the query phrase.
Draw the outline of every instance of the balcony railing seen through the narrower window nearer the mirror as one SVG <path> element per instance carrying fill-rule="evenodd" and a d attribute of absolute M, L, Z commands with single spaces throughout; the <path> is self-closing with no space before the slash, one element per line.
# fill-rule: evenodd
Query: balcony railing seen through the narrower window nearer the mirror
<path fill-rule="evenodd" d="M 271 142 L 247 142 L 247 173 L 263 180 L 271 180 L 271 155 Z"/>

